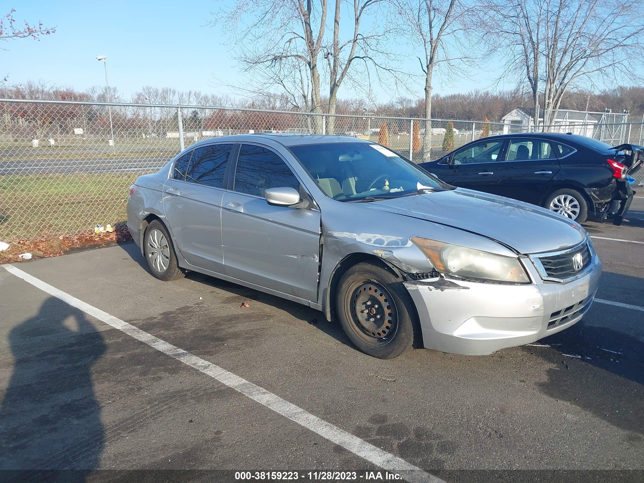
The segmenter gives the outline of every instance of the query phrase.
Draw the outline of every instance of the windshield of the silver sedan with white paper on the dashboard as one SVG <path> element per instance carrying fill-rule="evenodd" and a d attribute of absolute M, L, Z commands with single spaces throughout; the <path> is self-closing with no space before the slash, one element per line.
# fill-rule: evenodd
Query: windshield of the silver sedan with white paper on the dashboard
<path fill-rule="evenodd" d="M 379 144 L 305 144 L 291 146 L 290 151 L 319 188 L 341 202 L 398 198 L 423 189 L 451 189 Z"/>

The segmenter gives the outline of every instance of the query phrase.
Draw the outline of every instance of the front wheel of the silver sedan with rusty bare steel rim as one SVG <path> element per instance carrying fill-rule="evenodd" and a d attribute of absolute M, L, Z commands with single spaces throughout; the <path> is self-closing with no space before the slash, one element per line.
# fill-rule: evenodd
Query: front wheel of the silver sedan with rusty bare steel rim
<path fill-rule="evenodd" d="M 373 263 L 346 270 L 336 292 L 345 334 L 365 354 L 393 359 L 420 345 L 421 327 L 403 281 Z"/>

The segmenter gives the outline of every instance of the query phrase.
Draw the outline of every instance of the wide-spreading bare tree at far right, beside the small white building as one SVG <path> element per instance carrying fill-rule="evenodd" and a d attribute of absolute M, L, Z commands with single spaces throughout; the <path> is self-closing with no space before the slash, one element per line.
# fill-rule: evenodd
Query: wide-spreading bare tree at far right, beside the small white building
<path fill-rule="evenodd" d="M 505 44 L 507 72 L 527 79 L 535 123 L 543 96 L 544 126 L 569 90 L 614 84 L 644 52 L 642 0 L 484 0 L 482 15 Z"/>

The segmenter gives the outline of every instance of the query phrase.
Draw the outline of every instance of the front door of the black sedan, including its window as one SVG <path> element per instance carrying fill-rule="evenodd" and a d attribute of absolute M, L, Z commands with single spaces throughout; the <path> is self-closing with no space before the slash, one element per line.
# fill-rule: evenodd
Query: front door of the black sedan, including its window
<path fill-rule="evenodd" d="M 449 184 L 493 193 L 495 175 L 505 145 L 504 139 L 469 144 L 456 151 L 449 162 L 441 161 L 435 174 Z"/>

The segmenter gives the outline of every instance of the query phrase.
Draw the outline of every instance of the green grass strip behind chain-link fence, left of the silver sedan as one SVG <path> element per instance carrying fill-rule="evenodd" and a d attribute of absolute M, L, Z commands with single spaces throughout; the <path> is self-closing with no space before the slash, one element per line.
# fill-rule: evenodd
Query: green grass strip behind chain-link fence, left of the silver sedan
<path fill-rule="evenodd" d="M 93 231 L 127 219 L 128 187 L 143 172 L 0 176 L 0 241 Z"/>

